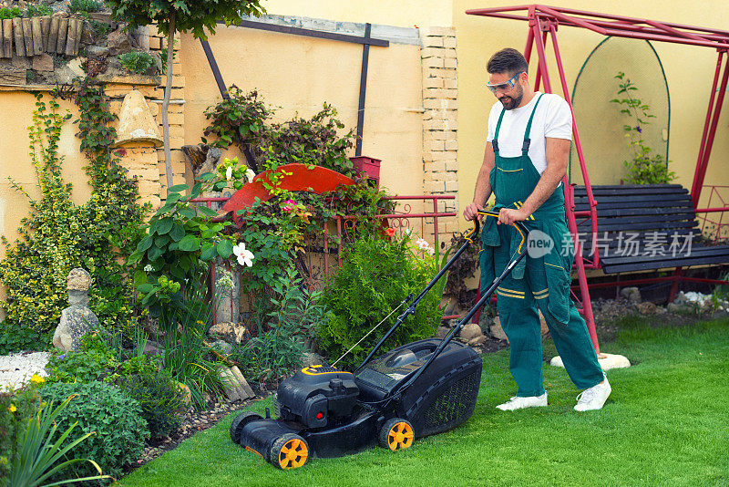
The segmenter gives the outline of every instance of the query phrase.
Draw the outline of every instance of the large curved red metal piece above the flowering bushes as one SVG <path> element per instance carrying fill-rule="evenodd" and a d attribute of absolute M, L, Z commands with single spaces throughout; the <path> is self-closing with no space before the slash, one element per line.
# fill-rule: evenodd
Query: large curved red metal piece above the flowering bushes
<path fill-rule="evenodd" d="M 354 184 L 352 178 L 344 176 L 339 172 L 332 171 L 320 166 L 309 166 L 307 164 L 285 164 L 275 170 L 262 172 L 253 181 L 244 185 L 240 190 L 231 196 L 231 199 L 222 207 L 222 212 L 233 213 L 233 222 L 241 224 L 241 215 L 238 212 L 245 208 L 251 208 L 256 200 L 266 202 L 271 199 L 271 193 L 265 188 L 264 183 L 272 184 L 272 180 L 281 174 L 278 187 L 291 192 L 323 192 L 334 191 L 339 186 L 351 186 Z"/>

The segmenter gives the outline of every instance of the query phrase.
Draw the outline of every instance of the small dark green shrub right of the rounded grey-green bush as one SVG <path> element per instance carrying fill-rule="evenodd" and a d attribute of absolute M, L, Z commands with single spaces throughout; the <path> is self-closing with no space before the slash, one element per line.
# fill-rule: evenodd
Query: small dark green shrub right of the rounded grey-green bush
<path fill-rule="evenodd" d="M 166 370 L 144 372 L 118 379 L 118 387 L 136 399 L 147 421 L 152 440 L 160 440 L 180 428 L 182 392 Z"/>

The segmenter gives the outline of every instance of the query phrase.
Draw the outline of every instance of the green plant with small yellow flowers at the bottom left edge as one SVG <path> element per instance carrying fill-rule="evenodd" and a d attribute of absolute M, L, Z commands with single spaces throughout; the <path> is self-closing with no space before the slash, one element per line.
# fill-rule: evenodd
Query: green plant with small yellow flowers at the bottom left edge
<path fill-rule="evenodd" d="M 0 485 L 13 464 L 17 439 L 27 428 L 27 420 L 40 408 L 38 384 L 34 376 L 23 389 L 0 391 Z"/>

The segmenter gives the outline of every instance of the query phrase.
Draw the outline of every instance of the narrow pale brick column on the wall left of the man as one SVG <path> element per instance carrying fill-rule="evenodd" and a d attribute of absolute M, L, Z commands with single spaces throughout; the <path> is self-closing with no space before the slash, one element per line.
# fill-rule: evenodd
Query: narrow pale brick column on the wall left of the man
<path fill-rule="evenodd" d="M 425 194 L 458 192 L 456 31 L 450 27 L 421 29 L 423 67 L 423 189 Z M 457 200 L 438 205 L 440 212 L 457 212 Z M 429 224 L 429 233 L 433 225 Z M 450 244 L 458 230 L 456 217 L 438 221 L 438 241 Z"/>

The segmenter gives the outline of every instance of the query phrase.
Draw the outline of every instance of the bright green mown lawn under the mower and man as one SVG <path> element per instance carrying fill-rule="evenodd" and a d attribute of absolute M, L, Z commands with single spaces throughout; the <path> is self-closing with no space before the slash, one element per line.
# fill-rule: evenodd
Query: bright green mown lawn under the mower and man
<path fill-rule="evenodd" d="M 654 329 L 626 319 L 608 353 L 631 368 L 608 372 L 601 411 L 572 409 L 564 369 L 544 367 L 549 407 L 502 412 L 515 385 L 508 350 L 483 356 L 474 415 L 406 451 L 380 448 L 312 459 L 280 471 L 231 443 L 230 415 L 121 479 L 170 485 L 729 485 L 729 320 Z M 545 343 L 545 356 L 554 353 Z M 270 400 L 252 407 L 261 411 Z"/>

